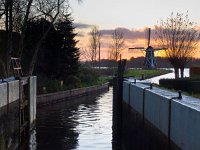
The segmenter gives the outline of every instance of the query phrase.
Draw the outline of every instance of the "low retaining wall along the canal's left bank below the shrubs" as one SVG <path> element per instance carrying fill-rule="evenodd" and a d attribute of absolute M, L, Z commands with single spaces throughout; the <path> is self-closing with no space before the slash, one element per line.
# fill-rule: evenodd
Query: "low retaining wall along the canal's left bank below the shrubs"
<path fill-rule="evenodd" d="M 97 93 L 99 91 L 106 90 L 106 89 L 108 89 L 108 83 L 103 84 L 103 85 L 86 87 L 86 88 L 79 88 L 79 89 L 67 90 L 67 91 L 56 92 L 56 93 L 42 94 L 42 95 L 37 96 L 37 105 L 38 106 L 47 105 L 50 103 L 55 103 L 59 100 L 81 97 L 84 95 Z"/>

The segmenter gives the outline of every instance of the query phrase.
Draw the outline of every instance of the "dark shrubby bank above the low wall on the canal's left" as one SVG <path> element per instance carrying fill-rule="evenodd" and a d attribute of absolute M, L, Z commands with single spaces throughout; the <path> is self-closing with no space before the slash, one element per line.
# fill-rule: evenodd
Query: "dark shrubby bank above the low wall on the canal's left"
<path fill-rule="evenodd" d="M 96 69 L 80 67 L 78 74 L 69 75 L 64 80 L 50 79 L 44 75 L 38 76 L 37 93 L 46 94 L 76 88 L 101 85 L 108 81 Z"/>

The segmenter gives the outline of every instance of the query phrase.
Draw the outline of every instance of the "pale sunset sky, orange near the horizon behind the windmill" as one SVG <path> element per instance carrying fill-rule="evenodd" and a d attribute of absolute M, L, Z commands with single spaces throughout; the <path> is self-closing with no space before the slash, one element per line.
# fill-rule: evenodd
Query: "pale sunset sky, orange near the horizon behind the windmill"
<path fill-rule="evenodd" d="M 199 0 L 82 0 L 79 4 L 71 0 L 72 17 L 78 46 L 88 49 L 88 33 L 96 25 L 102 30 L 102 58 L 107 58 L 109 37 L 116 28 L 123 31 L 126 48 L 122 57 L 142 56 L 140 51 L 128 51 L 128 47 L 145 46 L 144 29 L 158 25 L 161 19 L 166 19 L 173 13 L 186 13 L 189 19 L 200 26 Z M 153 41 L 153 38 L 152 38 Z M 199 51 L 199 50 L 198 50 Z M 157 55 L 160 55 L 159 53 Z M 200 56 L 199 56 L 200 57 Z"/>

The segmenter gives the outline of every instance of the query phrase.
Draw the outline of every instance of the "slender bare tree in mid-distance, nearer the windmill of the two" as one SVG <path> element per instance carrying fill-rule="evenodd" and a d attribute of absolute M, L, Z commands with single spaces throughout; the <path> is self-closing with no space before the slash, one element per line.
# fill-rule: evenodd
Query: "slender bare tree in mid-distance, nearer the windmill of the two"
<path fill-rule="evenodd" d="M 122 50 L 124 49 L 124 33 L 118 30 L 114 30 L 112 33 L 112 41 L 109 51 L 109 59 L 118 60 Z"/>

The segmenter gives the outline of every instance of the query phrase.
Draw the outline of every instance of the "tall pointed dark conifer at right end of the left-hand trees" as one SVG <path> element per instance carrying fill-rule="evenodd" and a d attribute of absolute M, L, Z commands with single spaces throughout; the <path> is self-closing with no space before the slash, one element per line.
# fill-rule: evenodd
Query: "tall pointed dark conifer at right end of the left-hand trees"
<path fill-rule="evenodd" d="M 77 35 L 74 32 L 74 26 L 70 18 L 70 14 L 64 16 L 64 20 L 60 20 L 56 25 L 57 31 L 62 37 L 61 58 L 62 77 L 68 75 L 76 75 L 79 67 L 79 48 L 76 47 L 78 41 L 75 40 Z"/>

